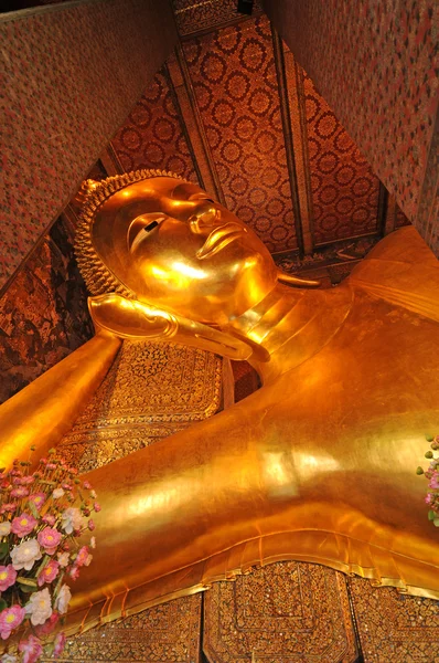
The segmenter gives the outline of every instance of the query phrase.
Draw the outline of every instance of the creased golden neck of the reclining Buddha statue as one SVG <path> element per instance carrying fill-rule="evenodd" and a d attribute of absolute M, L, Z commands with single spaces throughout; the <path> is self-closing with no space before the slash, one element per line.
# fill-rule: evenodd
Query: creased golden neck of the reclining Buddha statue
<path fill-rule="evenodd" d="M 232 323 L 251 341 L 249 360 L 268 382 L 318 352 L 343 324 L 352 304 L 349 286 L 293 290 L 278 284 L 257 306 Z"/>

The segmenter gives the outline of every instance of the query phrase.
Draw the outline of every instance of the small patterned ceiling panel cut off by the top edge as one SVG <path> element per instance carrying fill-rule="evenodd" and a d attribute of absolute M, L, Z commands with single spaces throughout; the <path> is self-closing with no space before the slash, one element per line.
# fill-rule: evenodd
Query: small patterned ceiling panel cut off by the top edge
<path fill-rule="evenodd" d="M 239 20 L 236 0 L 172 0 L 176 27 L 181 36 L 202 30 L 214 30 L 224 23 Z M 260 0 L 256 0 L 253 13 L 261 11 Z"/>

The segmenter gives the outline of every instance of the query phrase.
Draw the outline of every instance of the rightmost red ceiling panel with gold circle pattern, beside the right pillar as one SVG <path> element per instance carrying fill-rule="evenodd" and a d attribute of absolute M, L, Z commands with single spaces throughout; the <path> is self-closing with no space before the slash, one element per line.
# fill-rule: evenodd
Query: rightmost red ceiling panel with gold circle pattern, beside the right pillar
<path fill-rule="evenodd" d="M 379 180 L 311 78 L 303 75 L 317 244 L 377 232 Z"/>

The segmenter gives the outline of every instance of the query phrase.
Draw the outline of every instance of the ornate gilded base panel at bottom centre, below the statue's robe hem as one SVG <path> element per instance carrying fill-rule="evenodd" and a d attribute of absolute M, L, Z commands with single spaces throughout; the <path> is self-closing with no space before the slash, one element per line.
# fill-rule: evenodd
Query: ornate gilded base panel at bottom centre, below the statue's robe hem
<path fill-rule="evenodd" d="M 356 659 L 345 580 L 287 561 L 217 582 L 205 594 L 203 649 L 211 663 L 352 663 Z"/>

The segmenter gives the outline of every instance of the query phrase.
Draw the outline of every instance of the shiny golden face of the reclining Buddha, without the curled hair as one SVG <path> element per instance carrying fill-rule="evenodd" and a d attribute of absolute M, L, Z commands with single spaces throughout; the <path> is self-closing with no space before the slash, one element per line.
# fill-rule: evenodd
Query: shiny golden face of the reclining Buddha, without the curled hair
<path fill-rule="evenodd" d="M 242 315 L 276 285 L 256 234 L 196 185 L 158 177 L 98 210 L 93 243 L 139 301 L 213 324 Z"/>

